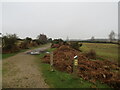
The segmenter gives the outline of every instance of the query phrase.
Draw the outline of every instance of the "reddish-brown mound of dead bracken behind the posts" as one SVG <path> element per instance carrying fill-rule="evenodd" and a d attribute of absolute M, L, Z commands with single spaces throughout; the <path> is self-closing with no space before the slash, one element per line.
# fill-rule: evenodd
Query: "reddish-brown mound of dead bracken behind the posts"
<path fill-rule="evenodd" d="M 112 87 L 120 88 L 120 67 L 108 60 L 89 60 L 82 52 L 67 45 L 60 46 L 53 52 L 53 65 L 57 70 L 73 72 L 74 56 L 78 56 L 77 75 L 93 83 L 99 80 Z M 43 57 L 43 62 L 50 63 L 50 55 Z"/>

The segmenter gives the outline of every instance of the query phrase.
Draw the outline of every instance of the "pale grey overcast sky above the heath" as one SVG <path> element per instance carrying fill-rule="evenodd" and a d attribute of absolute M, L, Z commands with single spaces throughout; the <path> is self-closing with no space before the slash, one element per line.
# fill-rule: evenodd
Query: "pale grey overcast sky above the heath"
<path fill-rule="evenodd" d="M 117 2 L 2 3 L 2 32 L 20 38 L 108 38 L 111 30 L 118 33 Z"/>

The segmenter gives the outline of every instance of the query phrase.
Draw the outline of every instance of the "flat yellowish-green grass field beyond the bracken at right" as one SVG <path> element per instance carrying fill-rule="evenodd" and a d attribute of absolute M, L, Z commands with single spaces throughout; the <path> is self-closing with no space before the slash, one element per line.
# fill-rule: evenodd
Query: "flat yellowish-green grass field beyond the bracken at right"
<path fill-rule="evenodd" d="M 88 52 L 90 49 L 96 51 L 97 56 L 108 59 L 118 60 L 118 45 L 117 44 L 105 44 L 105 43 L 83 43 L 80 48 L 83 52 Z"/>

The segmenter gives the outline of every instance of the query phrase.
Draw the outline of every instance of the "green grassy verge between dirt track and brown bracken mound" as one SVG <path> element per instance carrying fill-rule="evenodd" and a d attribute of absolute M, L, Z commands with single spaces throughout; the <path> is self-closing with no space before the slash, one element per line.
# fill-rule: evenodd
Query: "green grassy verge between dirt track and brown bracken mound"
<path fill-rule="evenodd" d="M 53 51 L 55 49 L 48 49 L 48 51 Z M 41 58 L 45 53 L 38 55 L 36 63 L 39 67 L 39 70 L 42 71 L 43 77 L 45 78 L 46 83 L 51 88 L 110 88 L 106 84 L 101 84 L 100 82 L 91 83 L 85 81 L 82 78 L 74 78 L 72 74 L 65 72 L 60 72 L 55 70 L 54 72 L 50 71 L 50 65 L 42 63 Z"/>

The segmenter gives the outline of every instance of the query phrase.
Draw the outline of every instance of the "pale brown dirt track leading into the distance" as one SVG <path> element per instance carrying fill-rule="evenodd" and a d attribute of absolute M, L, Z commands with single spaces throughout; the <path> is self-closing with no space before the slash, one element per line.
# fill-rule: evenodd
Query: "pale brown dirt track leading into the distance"
<path fill-rule="evenodd" d="M 49 47 L 42 47 L 45 49 Z M 33 55 L 19 53 L 3 60 L 3 88 L 48 88 Z"/>

